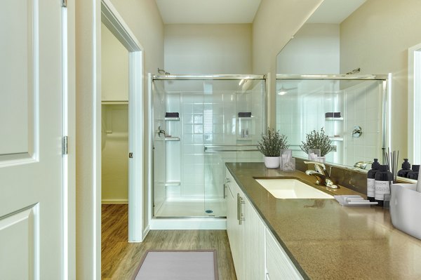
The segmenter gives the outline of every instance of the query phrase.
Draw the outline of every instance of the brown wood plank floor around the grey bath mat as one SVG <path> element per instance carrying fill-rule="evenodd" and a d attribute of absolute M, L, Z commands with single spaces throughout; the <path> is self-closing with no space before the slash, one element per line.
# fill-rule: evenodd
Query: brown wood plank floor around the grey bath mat
<path fill-rule="evenodd" d="M 236 280 L 227 231 L 151 230 L 142 243 L 128 243 L 128 206 L 102 205 L 102 279 L 131 279 L 149 249 L 216 249 L 220 280 Z"/>

